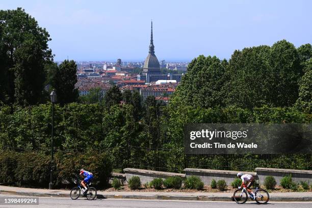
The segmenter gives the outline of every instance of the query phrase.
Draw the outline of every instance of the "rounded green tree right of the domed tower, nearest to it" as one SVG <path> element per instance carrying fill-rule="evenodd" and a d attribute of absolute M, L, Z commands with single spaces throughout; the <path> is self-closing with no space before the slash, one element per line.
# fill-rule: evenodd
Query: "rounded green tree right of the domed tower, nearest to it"
<path fill-rule="evenodd" d="M 222 106 L 220 89 L 224 84 L 224 66 L 226 63 L 215 56 L 197 57 L 188 65 L 188 72 L 182 78 L 170 102 L 203 108 Z"/>

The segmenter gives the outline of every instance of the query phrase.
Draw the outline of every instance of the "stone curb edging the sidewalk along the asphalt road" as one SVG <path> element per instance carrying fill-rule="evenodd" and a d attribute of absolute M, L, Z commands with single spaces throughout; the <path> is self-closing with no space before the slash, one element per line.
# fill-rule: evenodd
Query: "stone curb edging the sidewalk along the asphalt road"
<path fill-rule="evenodd" d="M 14 194 L 22 196 L 37 197 L 69 197 L 69 194 L 62 193 L 41 193 L 41 192 L 25 192 L 0 190 L 0 194 Z M 232 197 L 228 196 L 179 196 L 179 195 L 118 195 L 118 194 L 97 194 L 97 198 L 101 199 L 150 199 L 150 200 L 192 200 L 192 201 L 232 201 Z M 270 201 L 312 201 L 312 196 L 273 196 Z"/>

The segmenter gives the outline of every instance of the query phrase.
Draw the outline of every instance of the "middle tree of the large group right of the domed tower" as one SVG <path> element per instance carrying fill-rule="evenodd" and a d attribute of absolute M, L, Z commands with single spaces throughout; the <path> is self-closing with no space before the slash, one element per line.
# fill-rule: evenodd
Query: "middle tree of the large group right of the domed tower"
<path fill-rule="evenodd" d="M 250 109 L 269 104 L 269 53 L 270 47 L 266 45 L 234 51 L 221 90 L 226 106 Z"/>

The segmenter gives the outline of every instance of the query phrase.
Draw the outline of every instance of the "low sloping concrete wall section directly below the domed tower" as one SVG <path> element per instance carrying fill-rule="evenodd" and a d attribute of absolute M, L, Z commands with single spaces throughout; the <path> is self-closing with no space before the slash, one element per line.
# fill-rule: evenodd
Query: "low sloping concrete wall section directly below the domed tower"
<path fill-rule="evenodd" d="M 125 168 L 123 169 L 126 177 L 126 184 L 129 178 L 133 176 L 139 176 L 141 179 L 141 183 L 149 183 L 154 178 L 168 178 L 170 176 L 179 176 L 185 177 L 185 174 L 182 173 L 171 173 L 171 172 L 162 172 L 162 171 L 154 171 L 154 170 L 143 170 L 143 169 L 136 169 L 136 168 Z"/>

